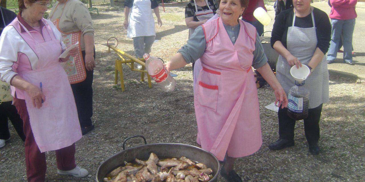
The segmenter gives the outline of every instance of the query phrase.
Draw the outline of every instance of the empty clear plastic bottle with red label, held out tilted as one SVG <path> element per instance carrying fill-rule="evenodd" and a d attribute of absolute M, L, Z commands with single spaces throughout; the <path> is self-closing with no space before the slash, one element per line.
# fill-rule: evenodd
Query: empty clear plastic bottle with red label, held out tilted
<path fill-rule="evenodd" d="M 143 56 L 143 58 L 145 58 Z M 160 59 L 153 59 L 153 57 L 146 56 L 147 59 L 151 59 L 146 66 L 148 74 L 153 80 L 161 87 L 164 92 L 171 92 L 175 90 L 176 81 L 170 74 L 168 74 L 164 64 L 162 64 Z M 145 58 L 146 62 L 147 59 Z"/>

